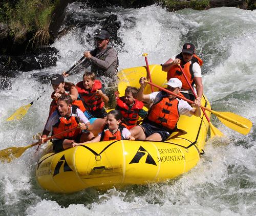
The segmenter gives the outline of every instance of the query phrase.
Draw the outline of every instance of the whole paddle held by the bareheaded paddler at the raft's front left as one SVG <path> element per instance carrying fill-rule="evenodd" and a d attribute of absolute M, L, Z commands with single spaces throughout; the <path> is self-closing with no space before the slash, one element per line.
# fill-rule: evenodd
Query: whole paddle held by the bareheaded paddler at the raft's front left
<path fill-rule="evenodd" d="M 70 129 L 67 129 L 67 131 L 63 131 L 59 134 L 53 135 L 51 137 L 48 137 L 45 139 L 45 141 L 51 140 L 59 135 L 74 131 L 74 129 L 76 129 L 77 127 L 73 127 Z M 8 163 L 10 163 L 12 161 L 13 158 L 19 158 L 20 156 L 22 156 L 22 154 L 25 152 L 25 150 L 27 150 L 28 148 L 31 148 L 35 145 L 39 145 L 42 144 L 41 142 L 36 142 L 33 143 L 31 145 L 25 146 L 25 147 L 10 147 L 10 148 L 5 148 L 3 150 L 0 150 L 0 160 L 2 162 L 7 161 Z"/>

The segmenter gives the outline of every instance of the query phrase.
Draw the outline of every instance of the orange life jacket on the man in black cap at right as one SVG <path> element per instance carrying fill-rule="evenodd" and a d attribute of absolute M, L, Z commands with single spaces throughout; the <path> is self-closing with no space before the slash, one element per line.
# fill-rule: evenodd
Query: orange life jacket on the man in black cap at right
<path fill-rule="evenodd" d="M 183 71 L 189 81 L 189 83 L 193 86 L 194 85 L 194 73 L 193 73 L 193 64 L 197 62 L 200 66 L 203 64 L 203 60 L 199 58 L 196 54 L 193 55 L 193 58 L 191 61 L 183 62 L 182 55 L 179 54 L 176 56 L 176 58 L 179 58 L 181 60 L 181 67 L 183 68 Z M 182 75 L 182 72 L 180 70 L 180 67 L 178 65 L 172 66 L 169 71 L 167 72 L 167 80 L 170 78 L 178 78 L 182 82 L 182 89 L 189 90 L 189 85 L 186 82 L 185 77 Z"/>

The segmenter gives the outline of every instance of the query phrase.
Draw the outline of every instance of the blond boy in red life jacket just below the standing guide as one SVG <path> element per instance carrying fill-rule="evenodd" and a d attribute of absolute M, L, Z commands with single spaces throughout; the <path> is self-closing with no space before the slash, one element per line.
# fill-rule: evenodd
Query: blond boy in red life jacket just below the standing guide
<path fill-rule="evenodd" d="M 109 97 L 105 95 L 101 81 L 95 77 L 95 73 L 84 73 L 82 81 L 76 87 L 86 109 L 96 118 L 104 118 L 108 114 L 104 109 L 104 102 L 109 102 Z"/>

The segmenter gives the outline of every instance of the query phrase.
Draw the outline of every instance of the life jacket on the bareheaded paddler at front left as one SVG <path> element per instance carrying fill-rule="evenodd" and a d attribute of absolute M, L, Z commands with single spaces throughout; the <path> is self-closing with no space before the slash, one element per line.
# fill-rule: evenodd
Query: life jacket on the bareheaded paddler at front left
<path fill-rule="evenodd" d="M 61 117 L 61 115 L 58 112 L 58 116 L 59 116 L 59 121 L 53 125 L 53 135 L 55 134 L 59 134 L 63 131 L 66 131 L 67 129 L 70 128 L 74 128 L 77 127 L 77 125 L 79 124 L 77 118 L 76 118 L 76 109 L 77 106 L 73 106 L 72 105 L 72 114 L 69 118 L 65 118 L 65 117 Z M 75 129 L 74 131 L 62 134 L 58 137 L 56 137 L 57 139 L 71 139 L 71 140 L 75 140 L 76 137 L 81 133 L 80 128 Z"/>

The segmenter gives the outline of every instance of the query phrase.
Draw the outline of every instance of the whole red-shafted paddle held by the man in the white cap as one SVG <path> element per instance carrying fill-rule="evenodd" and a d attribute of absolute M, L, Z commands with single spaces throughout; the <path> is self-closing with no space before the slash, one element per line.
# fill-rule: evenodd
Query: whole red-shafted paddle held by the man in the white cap
<path fill-rule="evenodd" d="M 191 104 L 194 103 L 193 101 L 188 100 L 187 98 L 184 98 L 180 95 L 177 95 L 167 89 L 164 89 L 164 88 L 160 87 L 159 85 L 156 85 L 156 84 L 154 84 L 152 82 L 148 82 L 148 81 L 146 81 L 146 82 L 162 91 L 167 92 L 168 94 L 172 94 L 178 98 L 181 98 L 182 100 L 185 100 L 188 103 L 191 103 Z M 211 112 L 212 114 L 215 114 L 223 124 L 225 124 L 227 127 L 231 128 L 231 129 L 233 129 L 234 131 L 237 131 L 243 135 L 246 135 L 250 132 L 252 122 L 249 119 L 246 119 L 242 116 L 239 116 L 237 114 L 230 113 L 230 112 L 217 112 L 217 111 L 213 111 L 205 106 L 200 106 L 200 107 L 204 110 Z"/>

